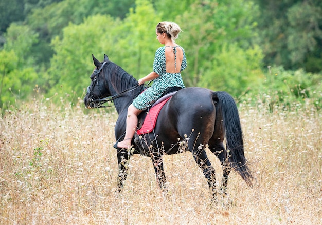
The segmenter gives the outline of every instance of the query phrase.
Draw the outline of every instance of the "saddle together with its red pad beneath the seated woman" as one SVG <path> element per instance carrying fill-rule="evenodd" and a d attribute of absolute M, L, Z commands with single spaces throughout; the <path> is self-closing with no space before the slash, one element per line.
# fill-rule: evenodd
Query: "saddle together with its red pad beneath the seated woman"
<path fill-rule="evenodd" d="M 167 101 L 180 89 L 180 87 L 168 88 L 163 93 L 162 97 L 160 97 L 151 106 L 150 109 L 140 113 L 142 117 L 139 118 L 138 129 L 136 130 L 137 135 L 147 134 L 153 131 L 160 110 L 167 103 Z"/>

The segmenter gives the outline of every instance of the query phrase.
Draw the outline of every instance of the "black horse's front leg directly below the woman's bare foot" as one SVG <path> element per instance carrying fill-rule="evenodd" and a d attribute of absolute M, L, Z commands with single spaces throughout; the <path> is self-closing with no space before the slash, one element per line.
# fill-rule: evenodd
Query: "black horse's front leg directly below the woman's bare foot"
<path fill-rule="evenodd" d="M 123 181 L 127 179 L 128 175 L 128 163 L 131 157 L 130 149 L 117 150 L 118 161 L 118 178 L 117 178 L 117 190 L 120 192 L 123 188 Z"/>

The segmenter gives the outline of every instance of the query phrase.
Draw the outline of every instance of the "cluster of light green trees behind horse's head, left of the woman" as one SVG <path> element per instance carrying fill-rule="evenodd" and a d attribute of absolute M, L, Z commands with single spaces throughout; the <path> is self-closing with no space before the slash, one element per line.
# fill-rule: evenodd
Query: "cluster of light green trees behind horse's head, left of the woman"
<path fill-rule="evenodd" d="M 97 15 L 80 25 L 69 24 L 63 30 L 63 38 L 52 41 L 56 54 L 51 60 L 50 85 L 55 88 L 49 95 L 74 91 L 76 96 L 81 96 L 93 71 L 91 54 L 97 58 L 108 54 L 111 60 L 137 77 L 151 72 L 157 47 L 157 21 L 152 5 L 139 0 L 136 11 L 131 10 L 123 23 L 111 16 Z"/>

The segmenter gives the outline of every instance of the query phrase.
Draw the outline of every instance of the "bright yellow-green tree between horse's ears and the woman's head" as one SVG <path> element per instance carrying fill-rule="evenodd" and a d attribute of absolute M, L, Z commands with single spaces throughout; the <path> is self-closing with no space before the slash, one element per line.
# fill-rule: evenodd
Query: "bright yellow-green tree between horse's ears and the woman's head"
<path fill-rule="evenodd" d="M 137 0 L 116 33 L 111 60 L 136 78 L 152 71 L 155 51 L 161 45 L 156 39 L 155 27 L 161 19 L 147 0 Z"/>

